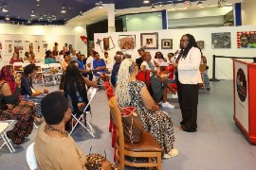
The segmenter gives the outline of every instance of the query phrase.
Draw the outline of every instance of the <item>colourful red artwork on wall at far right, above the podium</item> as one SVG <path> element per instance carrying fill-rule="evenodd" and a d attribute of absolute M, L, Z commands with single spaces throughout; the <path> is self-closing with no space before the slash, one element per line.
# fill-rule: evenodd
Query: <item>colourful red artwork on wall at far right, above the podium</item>
<path fill-rule="evenodd" d="M 256 31 L 237 32 L 237 48 L 256 48 Z"/>

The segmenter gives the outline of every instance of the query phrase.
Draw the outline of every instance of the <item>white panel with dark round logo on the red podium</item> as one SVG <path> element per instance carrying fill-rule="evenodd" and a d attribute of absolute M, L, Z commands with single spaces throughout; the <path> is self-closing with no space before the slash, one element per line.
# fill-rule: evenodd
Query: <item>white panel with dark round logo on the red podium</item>
<path fill-rule="evenodd" d="M 235 117 L 248 131 L 248 88 L 247 64 L 238 61 L 235 64 Z"/>

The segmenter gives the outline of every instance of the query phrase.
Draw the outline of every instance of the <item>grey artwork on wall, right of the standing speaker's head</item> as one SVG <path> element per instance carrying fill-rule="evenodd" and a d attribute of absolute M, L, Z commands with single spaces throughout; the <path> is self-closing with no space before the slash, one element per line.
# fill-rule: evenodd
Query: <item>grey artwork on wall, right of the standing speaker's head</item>
<path fill-rule="evenodd" d="M 230 32 L 211 33 L 212 48 L 231 48 Z"/>

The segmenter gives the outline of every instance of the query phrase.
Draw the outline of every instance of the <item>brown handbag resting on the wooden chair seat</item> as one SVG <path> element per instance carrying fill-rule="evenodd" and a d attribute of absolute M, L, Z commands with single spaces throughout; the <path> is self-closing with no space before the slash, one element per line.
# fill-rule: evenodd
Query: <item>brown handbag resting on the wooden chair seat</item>
<path fill-rule="evenodd" d="M 142 141 L 143 124 L 135 107 L 126 107 L 121 110 L 124 142 L 135 144 Z"/>

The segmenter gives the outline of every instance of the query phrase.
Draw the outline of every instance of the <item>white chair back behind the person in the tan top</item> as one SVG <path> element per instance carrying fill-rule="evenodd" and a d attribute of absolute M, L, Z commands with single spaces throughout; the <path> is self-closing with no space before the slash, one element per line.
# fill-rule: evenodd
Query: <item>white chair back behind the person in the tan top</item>
<path fill-rule="evenodd" d="M 26 151 L 26 160 L 30 170 L 37 169 L 37 161 L 34 153 L 34 144 L 29 144 Z"/>

